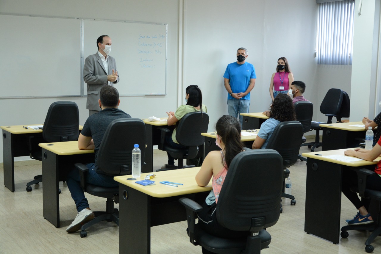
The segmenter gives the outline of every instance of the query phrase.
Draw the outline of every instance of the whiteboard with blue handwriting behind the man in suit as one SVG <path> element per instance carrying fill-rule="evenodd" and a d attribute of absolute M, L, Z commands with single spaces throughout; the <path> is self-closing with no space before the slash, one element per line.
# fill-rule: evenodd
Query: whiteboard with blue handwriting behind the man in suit
<path fill-rule="evenodd" d="M 84 58 L 98 51 L 99 36 L 111 38 L 120 96 L 166 93 L 166 24 L 83 19 L 82 29 Z"/>

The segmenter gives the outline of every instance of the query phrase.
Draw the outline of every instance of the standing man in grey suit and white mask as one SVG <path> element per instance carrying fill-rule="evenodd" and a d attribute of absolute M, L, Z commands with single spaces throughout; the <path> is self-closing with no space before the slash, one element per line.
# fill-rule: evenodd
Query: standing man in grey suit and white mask
<path fill-rule="evenodd" d="M 98 52 L 88 56 L 83 66 L 83 80 L 87 84 L 86 109 L 89 116 L 98 113 L 99 91 L 103 86 L 114 86 L 119 82 L 115 59 L 109 56 L 111 51 L 111 38 L 108 35 L 99 36 L 96 41 Z"/>

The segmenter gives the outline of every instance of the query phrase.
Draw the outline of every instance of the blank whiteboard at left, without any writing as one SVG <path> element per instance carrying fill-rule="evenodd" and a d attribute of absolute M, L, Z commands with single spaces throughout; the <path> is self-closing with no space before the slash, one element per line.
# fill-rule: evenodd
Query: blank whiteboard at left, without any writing
<path fill-rule="evenodd" d="M 0 14 L 0 97 L 80 96 L 80 22 Z"/>

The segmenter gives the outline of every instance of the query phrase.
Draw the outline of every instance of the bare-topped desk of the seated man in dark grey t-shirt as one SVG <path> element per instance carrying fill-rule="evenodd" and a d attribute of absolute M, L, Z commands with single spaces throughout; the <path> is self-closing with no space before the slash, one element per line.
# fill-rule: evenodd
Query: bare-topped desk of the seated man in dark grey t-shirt
<path fill-rule="evenodd" d="M 43 216 L 59 227 L 58 182 L 66 180 L 66 174 L 74 163 L 94 162 L 94 150 L 79 150 L 78 141 L 39 144 L 42 148 Z"/>

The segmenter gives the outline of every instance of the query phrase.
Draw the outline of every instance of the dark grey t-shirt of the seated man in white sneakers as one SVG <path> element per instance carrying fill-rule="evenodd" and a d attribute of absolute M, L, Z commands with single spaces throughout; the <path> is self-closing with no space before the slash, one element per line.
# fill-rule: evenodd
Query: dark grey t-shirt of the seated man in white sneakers
<path fill-rule="evenodd" d="M 81 134 L 86 137 L 92 137 L 94 141 L 95 169 L 97 173 L 103 174 L 103 171 L 100 169 L 98 170 L 96 159 L 104 133 L 106 132 L 107 126 L 109 126 L 112 121 L 120 118 L 131 118 L 131 116 L 120 109 L 107 108 L 91 115 L 87 118 L 85 125 L 83 125 Z"/>

